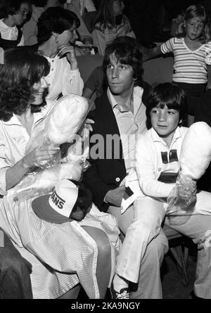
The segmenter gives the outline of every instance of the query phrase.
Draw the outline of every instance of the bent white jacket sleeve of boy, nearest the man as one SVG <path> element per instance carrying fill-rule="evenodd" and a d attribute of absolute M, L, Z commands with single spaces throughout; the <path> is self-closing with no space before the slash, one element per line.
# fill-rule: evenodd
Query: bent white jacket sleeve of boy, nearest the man
<path fill-rule="evenodd" d="M 155 161 L 153 161 L 153 146 L 146 144 L 145 135 L 139 137 L 136 145 L 136 172 L 139 178 L 141 191 L 146 196 L 166 198 L 170 195 L 175 184 L 165 184 L 155 177 Z"/>

